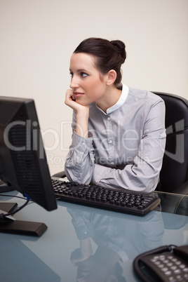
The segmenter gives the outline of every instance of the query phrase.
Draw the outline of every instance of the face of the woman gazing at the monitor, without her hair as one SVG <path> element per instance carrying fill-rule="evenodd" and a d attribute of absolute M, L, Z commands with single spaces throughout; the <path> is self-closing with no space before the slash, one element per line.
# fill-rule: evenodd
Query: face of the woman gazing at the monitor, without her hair
<path fill-rule="evenodd" d="M 73 99 L 81 105 L 98 104 L 107 90 L 106 77 L 95 66 L 95 59 L 86 53 L 73 53 L 70 60 L 70 88 Z"/>

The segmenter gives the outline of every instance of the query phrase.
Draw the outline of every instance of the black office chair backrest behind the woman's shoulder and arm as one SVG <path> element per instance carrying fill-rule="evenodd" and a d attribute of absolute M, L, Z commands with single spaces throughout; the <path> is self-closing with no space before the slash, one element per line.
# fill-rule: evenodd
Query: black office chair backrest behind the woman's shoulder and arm
<path fill-rule="evenodd" d="M 173 94 L 153 93 L 166 105 L 166 149 L 159 187 L 173 192 L 188 179 L 188 101 Z"/>

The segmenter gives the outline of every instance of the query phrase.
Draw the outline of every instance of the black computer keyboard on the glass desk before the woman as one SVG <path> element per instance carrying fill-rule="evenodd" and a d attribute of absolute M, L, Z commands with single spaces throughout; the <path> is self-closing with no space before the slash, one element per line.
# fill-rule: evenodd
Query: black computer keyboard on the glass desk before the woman
<path fill-rule="evenodd" d="M 83 206 L 113 210 L 132 215 L 146 215 L 159 205 L 157 194 L 141 194 L 125 189 L 109 189 L 95 185 L 65 182 L 52 177 L 55 197 Z"/>

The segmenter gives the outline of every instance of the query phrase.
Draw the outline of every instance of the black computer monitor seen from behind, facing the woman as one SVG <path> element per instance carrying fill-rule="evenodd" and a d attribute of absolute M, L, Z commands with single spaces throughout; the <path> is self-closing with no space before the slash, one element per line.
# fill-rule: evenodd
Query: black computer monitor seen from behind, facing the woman
<path fill-rule="evenodd" d="M 0 180 L 46 210 L 57 208 L 32 99 L 0 96 Z"/>

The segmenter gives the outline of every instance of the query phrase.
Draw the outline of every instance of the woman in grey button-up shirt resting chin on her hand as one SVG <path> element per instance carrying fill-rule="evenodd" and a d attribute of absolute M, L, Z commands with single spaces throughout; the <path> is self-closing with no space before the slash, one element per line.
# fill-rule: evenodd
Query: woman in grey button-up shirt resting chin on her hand
<path fill-rule="evenodd" d="M 121 83 L 122 41 L 90 38 L 72 54 L 65 104 L 74 109 L 69 180 L 152 192 L 159 182 L 165 106 L 159 96 Z"/>

